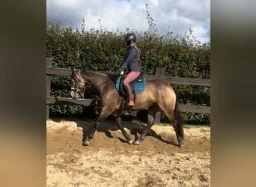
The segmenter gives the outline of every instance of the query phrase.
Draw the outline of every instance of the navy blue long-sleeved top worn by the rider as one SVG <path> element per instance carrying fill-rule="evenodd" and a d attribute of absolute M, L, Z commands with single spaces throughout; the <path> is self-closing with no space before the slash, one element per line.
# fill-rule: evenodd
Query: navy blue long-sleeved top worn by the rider
<path fill-rule="evenodd" d="M 119 68 L 119 71 L 121 72 L 127 67 L 128 71 L 138 71 L 140 72 L 141 69 L 138 65 L 138 52 L 137 49 L 134 47 L 129 47 L 127 49 L 127 53 L 124 56 L 124 63 Z"/>

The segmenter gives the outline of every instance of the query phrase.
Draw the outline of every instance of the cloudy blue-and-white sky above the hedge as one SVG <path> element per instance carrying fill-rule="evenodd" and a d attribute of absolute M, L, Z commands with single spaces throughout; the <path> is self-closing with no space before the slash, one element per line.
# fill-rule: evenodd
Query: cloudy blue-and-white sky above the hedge
<path fill-rule="evenodd" d="M 210 41 L 210 0 L 46 0 L 46 21 L 85 30 L 144 32 L 149 28 L 147 10 L 157 34 L 192 35 Z"/>

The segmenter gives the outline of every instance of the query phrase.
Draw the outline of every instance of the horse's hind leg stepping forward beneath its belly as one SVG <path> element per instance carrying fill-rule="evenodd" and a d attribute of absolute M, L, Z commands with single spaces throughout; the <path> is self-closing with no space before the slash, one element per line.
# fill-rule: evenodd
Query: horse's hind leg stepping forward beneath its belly
<path fill-rule="evenodd" d="M 158 111 L 159 108 L 156 106 L 148 108 L 147 111 L 147 126 L 144 129 L 144 132 L 142 132 L 141 136 L 133 143 L 133 144 L 141 144 L 141 141 L 144 140 L 145 136 L 147 135 L 148 132 L 150 132 L 151 127 L 153 126 L 153 120 L 156 116 L 156 111 Z"/>

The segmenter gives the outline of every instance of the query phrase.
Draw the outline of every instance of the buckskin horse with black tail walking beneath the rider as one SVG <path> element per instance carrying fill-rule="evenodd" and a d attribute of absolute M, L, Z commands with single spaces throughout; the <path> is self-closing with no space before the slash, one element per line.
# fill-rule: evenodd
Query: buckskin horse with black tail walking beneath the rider
<path fill-rule="evenodd" d="M 71 73 L 71 91 L 70 95 L 73 99 L 83 97 L 85 93 L 85 86 L 91 85 L 92 88 L 97 90 L 100 96 L 102 111 L 97 118 L 91 132 L 83 141 L 83 145 L 87 146 L 91 143 L 94 133 L 99 129 L 100 123 L 106 120 L 109 114 L 115 116 L 119 129 L 127 139 L 128 144 L 141 144 L 150 128 L 153 126 L 154 117 L 157 111 L 162 111 L 167 120 L 174 127 L 178 146 L 183 145 L 184 132 L 183 120 L 180 117 L 178 109 L 177 96 L 174 89 L 167 83 L 160 79 L 147 80 L 146 88 L 143 93 L 136 95 L 135 105 L 125 108 L 127 111 L 140 111 L 147 109 L 147 126 L 140 137 L 133 140 L 129 137 L 121 123 L 121 102 L 124 96 L 118 93 L 115 88 L 117 76 L 110 73 L 102 73 L 92 70 L 73 70 Z"/>

